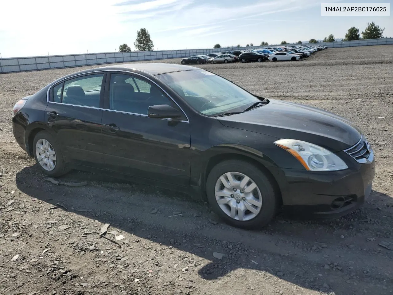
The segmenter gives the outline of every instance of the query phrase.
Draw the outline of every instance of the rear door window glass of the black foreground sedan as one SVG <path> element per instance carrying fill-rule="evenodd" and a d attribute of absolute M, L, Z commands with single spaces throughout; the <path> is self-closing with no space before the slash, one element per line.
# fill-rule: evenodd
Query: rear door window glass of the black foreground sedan
<path fill-rule="evenodd" d="M 99 107 L 101 85 L 104 74 L 77 77 L 65 81 L 62 103 Z"/>

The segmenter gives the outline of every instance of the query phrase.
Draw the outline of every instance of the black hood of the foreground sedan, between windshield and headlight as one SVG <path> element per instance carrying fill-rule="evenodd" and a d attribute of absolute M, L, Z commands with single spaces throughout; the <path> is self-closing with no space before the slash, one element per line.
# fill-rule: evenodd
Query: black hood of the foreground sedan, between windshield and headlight
<path fill-rule="evenodd" d="M 274 136 L 303 140 L 331 151 L 342 151 L 358 142 L 361 131 L 350 121 L 307 105 L 269 100 L 248 112 L 219 117 L 222 125 Z"/>

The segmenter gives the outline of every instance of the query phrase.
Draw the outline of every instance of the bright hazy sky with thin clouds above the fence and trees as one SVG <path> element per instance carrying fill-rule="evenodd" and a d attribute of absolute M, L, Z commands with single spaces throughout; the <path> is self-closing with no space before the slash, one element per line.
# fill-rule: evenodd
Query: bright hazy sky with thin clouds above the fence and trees
<path fill-rule="evenodd" d="M 321 16 L 315 0 L 2 0 L 0 53 L 114 52 L 123 43 L 134 50 L 140 28 L 149 31 L 154 50 L 292 43 L 329 34 L 341 39 L 350 27 L 361 32 L 371 21 L 393 37 L 393 15 Z"/>

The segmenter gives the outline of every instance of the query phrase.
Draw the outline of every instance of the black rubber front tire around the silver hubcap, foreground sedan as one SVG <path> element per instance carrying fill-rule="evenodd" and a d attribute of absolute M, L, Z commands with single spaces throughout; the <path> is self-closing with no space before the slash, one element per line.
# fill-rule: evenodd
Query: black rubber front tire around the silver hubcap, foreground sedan
<path fill-rule="evenodd" d="M 217 188 L 219 188 L 219 190 L 221 188 L 229 191 L 232 190 L 231 188 L 225 188 L 222 184 L 219 185 L 220 177 L 228 172 L 234 173 L 234 175 L 236 175 L 236 173 L 246 175 L 250 178 L 250 181 L 254 182 L 257 185 L 257 187 L 251 193 L 248 192 L 248 196 L 250 196 L 250 194 L 254 196 L 255 192 L 257 192 L 258 195 L 259 192 L 259 197 L 261 198 L 262 205 L 258 214 L 255 214 L 248 210 L 245 211 L 249 213 L 248 215 L 244 214 L 244 219 L 247 219 L 247 216 L 254 216 L 248 220 L 238 220 L 240 218 L 239 216 L 238 219 L 231 218 L 228 213 L 225 213 L 222 207 L 220 207 L 224 206 L 224 208 L 228 208 L 226 210 L 230 210 L 230 206 L 228 204 L 219 205 L 217 203 Z M 232 194 L 232 196 L 234 197 L 223 196 L 222 198 L 229 200 L 229 202 L 232 202 L 231 204 L 234 205 L 236 205 L 236 203 L 242 202 L 242 204 L 236 205 L 236 208 L 237 206 L 241 206 L 244 205 L 244 203 L 247 203 L 247 199 L 243 199 L 244 201 L 241 201 L 241 195 L 243 194 L 243 191 L 237 190 L 237 192 L 237 194 Z M 211 208 L 221 219 L 234 227 L 240 227 L 243 229 L 257 229 L 264 227 L 274 218 L 274 216 L 277 214 L 277 210 L 279 207 L 279 196 L 270 178 L 257 166 L 254 166 L 253 164 L 243 160 L 225 160 L 214 166 L 213 169 L 210 171 L 208 179 L 206 181 L 206 194 Z M 225 194 L 227 194 L 227 191 L 225 192 Z M 244 195 L 246 195 L 245 192 Z M 236 198 L 239 198 L 239 200 L 236 200 Z M 233 203 L 233 201 L 235 203 Z M 249 203 L 248 206 L 250 206 Z"/>

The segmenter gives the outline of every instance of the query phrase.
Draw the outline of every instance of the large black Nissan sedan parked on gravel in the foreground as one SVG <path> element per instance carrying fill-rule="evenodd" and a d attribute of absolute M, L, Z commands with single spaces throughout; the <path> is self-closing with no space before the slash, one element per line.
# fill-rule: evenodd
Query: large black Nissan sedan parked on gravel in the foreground
<path fill-rule="evenodd" d="M 374 153 L 348 120 L 251 94 L 191 66 L 83 70 L 17 102 L 13 133 L 50 177 L 72 168 L 207 198 L 231 225 L 283 208 L 342 216 L 371 192 Z"/>

